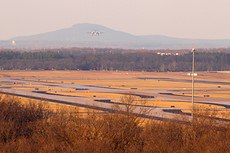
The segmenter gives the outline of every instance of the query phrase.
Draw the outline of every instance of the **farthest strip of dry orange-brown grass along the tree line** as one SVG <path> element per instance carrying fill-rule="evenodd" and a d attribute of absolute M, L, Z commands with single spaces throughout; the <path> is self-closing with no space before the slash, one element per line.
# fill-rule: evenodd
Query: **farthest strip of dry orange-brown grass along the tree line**
<path fill-rule="evenodd" d="M 93 75 L 92 75 L 93 74 Z M 123 71 L 1 71 L 0 77 L 64 78 L 64 79 L 132 79 L 136 77 L 191 79 L 187 72 L 123 72 Z M 230 73 L 198 72 L 198 80 L 230 82 Z M 45 79 L 44 79 L 45 80 Z"/>

